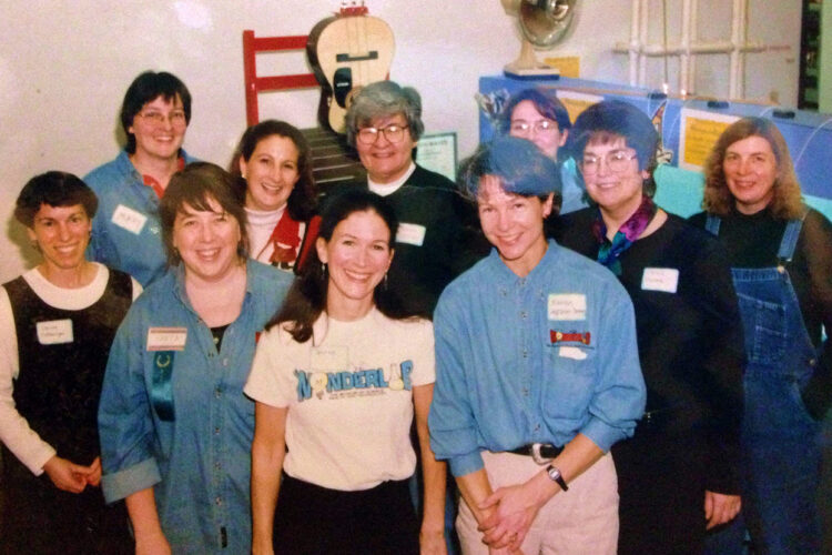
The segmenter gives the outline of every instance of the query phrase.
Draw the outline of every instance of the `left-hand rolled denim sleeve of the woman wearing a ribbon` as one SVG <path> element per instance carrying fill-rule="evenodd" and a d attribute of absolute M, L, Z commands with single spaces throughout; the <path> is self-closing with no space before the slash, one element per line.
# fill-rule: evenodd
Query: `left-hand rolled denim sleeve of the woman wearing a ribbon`
<path fill-rule="evenodd" d="M 108 503 L 161 481 L 151 452 L 154 427 L 144 381 L 144 304 L 136 301 L 115 334 L 101 392 L 101 485 Z"/>

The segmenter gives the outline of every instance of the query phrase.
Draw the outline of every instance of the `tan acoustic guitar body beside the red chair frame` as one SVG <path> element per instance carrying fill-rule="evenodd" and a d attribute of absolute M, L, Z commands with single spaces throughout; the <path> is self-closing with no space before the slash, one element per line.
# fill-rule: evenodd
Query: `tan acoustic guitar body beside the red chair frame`
<path fill-rule="evenodd" d="M 365 84 L 387 79 L 395 50 L 393 31 L 367 8 L 353 2 L 319 21 L 310 32 L 306 54 L 321 83 L 321 123 L 346 132 L 346 110 L 353 94 Z"/>

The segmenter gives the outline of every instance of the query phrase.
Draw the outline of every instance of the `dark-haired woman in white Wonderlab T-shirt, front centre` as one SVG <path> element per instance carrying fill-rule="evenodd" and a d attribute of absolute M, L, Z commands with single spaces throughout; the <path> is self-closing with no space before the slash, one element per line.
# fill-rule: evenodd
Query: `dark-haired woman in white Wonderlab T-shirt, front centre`
<path fill-rule="evenodd" d="M 260 340 L 244 390 L 256 401 L 255 554 L 445 553 L 445 467 L 427 432 L 433 326 L 387 287 L 396 228 L 375 193 L 327 203 L 310 263 Z M 407 487 L 414 412 L 420 526 Z"/>

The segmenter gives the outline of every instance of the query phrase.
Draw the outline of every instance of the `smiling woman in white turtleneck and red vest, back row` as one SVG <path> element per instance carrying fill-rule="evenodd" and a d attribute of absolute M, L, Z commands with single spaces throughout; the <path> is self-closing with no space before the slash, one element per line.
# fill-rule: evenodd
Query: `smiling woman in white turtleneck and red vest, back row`
<path fill-rule="evenodd" d="M 245 205 L 251 258 L 291 271 L 316 205 L 312 151 L 303 133 L 277 120 L 250 127 L 229 171 Z"/>

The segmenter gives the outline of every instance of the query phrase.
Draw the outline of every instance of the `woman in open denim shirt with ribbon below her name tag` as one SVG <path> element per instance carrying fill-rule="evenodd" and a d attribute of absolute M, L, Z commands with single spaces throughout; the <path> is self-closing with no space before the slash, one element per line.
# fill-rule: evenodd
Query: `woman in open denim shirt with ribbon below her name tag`
<path fill-rule="evenodd" d="M 171 269 L 128 313 L 104 377 L 104 496 L 125 498 L 136 553 L 248 553 L 243 384 L 291 279 L 247 260 L 245 212 L 219 167 L 176 173 L 160 213 Z"/>

